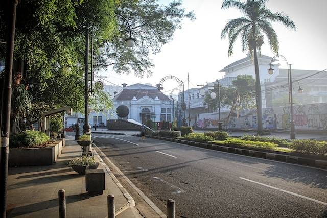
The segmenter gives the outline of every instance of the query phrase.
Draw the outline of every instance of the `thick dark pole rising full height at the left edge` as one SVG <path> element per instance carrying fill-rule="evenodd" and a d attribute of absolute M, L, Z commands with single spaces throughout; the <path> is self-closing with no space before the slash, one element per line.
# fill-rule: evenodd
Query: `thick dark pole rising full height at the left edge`
<path fill-rule="evenodd" d="M 2 90 L 2 108 L 1 108 L 1 137 L 0 137 L 0 198 L 1 198 L 1 217 L 6 217 L 7 206 L 7 181 L 8 181 L 8 157 L 9 157 L 9 136 L 10 136 L 10 112 L 11 112 L 11 85 L 14 59 L 14 42 L 16 26 L 16 9 L 18 0 L 9 1 L 12 13 L 8 16 L 7 26 L 7 47 L 6 64 L 4 75 L 4 87 Z"/>

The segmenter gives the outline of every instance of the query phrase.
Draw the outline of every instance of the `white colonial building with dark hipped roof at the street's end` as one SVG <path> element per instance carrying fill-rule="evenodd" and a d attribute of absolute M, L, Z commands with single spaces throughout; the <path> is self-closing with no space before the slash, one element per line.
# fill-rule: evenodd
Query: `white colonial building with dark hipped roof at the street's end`
<path fill-rule="evenodd" d="M 120 105 L 127 106 L 129 114 L 126 118 L 136 122 L 145 123 L 148 119 L 153 122 L 172 122 L 172 101 L 149 84 L 123 84 L 123 89 L 116 93 L 113 102 L 114 110 Z M 113 119 L 117 118 L 113 116 Z"/>

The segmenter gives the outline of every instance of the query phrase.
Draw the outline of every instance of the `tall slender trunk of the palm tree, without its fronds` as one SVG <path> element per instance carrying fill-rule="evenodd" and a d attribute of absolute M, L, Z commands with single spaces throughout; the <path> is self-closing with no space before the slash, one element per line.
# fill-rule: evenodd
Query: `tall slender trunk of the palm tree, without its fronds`
<path fill-rule="evenodd" d="M 259 75 L 258 53 L 256 53 L 256 33 L 253 28 L 253 52 L 254 52 L 254 71 L 255 71 L 255 95 L 256 95 L 256 130 L 258 135 L 262 135 L 262 102 L 261 102 L 261 84 Z"/>

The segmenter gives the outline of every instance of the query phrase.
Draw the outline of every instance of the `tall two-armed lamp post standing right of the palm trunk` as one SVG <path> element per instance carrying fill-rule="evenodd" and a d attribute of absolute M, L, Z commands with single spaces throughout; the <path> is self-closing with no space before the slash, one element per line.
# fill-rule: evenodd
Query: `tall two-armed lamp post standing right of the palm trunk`
<path fill-rule="evenodd" d="M 293 82 L 297 82 L 298 83 L 298 92 L 302 93 L 303 89 L 300 87 L 300 83 L 297 80 L 292 80 L 292 66 L 291 64 L 288 64 L 286 58 L 283 55 L 275 55 L 274 57 L 271 58 L 270 60 L 270 68 L 268 69 L 268 74 L 272 75 L 274 72 L 274 69 L 272 68 L 272 62 L 274 61 L 274 59 L 276 57 L 281 57 L 286 61 L 287 64 L 287 74 L 288 74 L 288 93 L 289 93 L 289 103 L 290 107 L 291 107 L 291 120 L 290 120 L 290 129 L 291 129 L 291 133 L 290 133 L 290 138 L 291 139 L 295 139 L 295 122 L 294 122 L 294 111 L 293 111 Z"/>

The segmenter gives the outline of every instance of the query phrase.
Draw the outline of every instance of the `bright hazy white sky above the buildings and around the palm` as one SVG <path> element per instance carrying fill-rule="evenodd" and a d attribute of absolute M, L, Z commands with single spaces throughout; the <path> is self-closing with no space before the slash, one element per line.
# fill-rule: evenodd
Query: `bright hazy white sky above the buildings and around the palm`
<path fill-rule="evenodd" d="M 168 4 L 170 0 L 160 0 Z M 228 39 L 220 39 L 221 30 L 230 19 L 241 17 L 236 9 L 221 9 L 222 0 L 183 0 L 186 11 L 194 11 L 194 21 L 183 20 L 182 29 L 175 31 L 173 39 L 161 52 L 151 55 L 155 64 L 151 77 L 137 78 L 132 73 L 118 75 L 108 69 L 101 76 L 121 85 L 150 83 L 153 86 L 165 76 L 173 75 L 182 80 L 185 90 L 190 75 L 190 88 L 223 78 L 219 72 L 228 64 L 246 57 L 241 43 L 234 46 L 234 54 L 228 57 Z M 327 68 L 327 0 L 270 0 L 266 4 L 272 12 L 285 12 L 295 22 L 296 31 L 281 24 L 272 23 L 279 40 L 279 54 L 286 57 L 293 69 L 322 70 Z M 272 57 L 267 40 L 262 46 L 263 55 Z M 267 67 L 268 68 L 268 67 Z M 286 64 L 281 62 L 281 68 Z M 107 82 L 106 82 L 107 83 Z M 109 83 L 107 83 L 109 84 Z M 174 80 L 163 84 L 165 94 L 178 86 Z M 174 91 L 176 94 L 178 91 Z"/>

